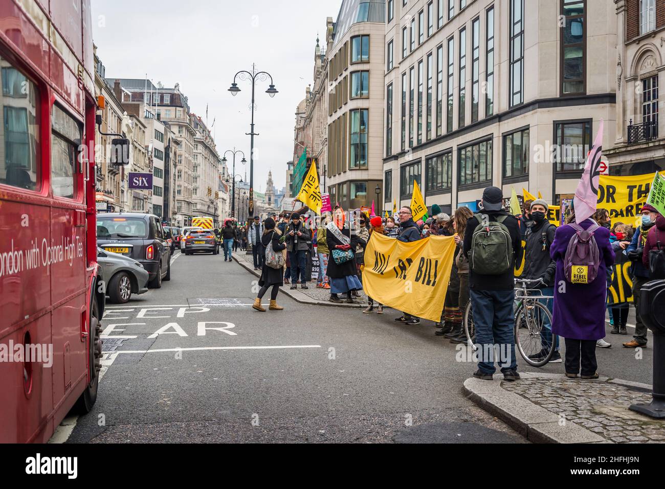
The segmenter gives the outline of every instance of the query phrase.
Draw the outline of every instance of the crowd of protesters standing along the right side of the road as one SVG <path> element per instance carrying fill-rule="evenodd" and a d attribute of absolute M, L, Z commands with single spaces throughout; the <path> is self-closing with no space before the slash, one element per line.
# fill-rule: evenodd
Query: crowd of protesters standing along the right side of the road
<path fill-rule="evenodd" d="M 577 222 L 575 209 L 571 205 L 565 223 L 557 227 L 547 218 L 549 205 L 543 199 L 525 201 L 521 215 L 511 215 L 506 210 L 501 189 L 487 187 L 483 191 L 481 210 L 474 215 L 468 207 L 455 209 L 452 217 L 442 212 L 438 205 L 432 206 L 432 217 L 426 221 L 414 221 L 410 207 L 402 207 L 390 217 L 369 217 L 359 211 L 345 212 L 339 206 L 332 212 L 322 213 L 321 220 L 313 219 L 304 208 L 293 213 L 282 213 L 264 223 L 255 219 L 245 231 L 254 253 L 256 270 L 262 270 L 261 292 L 255 309 L 264 310 L 260 299 L 271 292 L 272 310 L 279 286 L 289 284 L 309 288 L 311 282 L 313 254 L 319 261 L 319 274 L 315 286 L 330 291 L 329 300 L 334 303 L 356 304 L 362 290 L 364 250 L 374 233 L 411 243 L 430 236 L 452 236 L 456 249 L 450 275 L 450 283 L 440 321 L 435 323 L 436 336 L 448 338 L 451 343 L 467 343 L 463 326 L 463 314 L 471 302 L 475 343 L 479 351 L 491 349 L 483 345 L 507 346 L 509 362 L 499 362 L 505 380 L 519 379 L 515 356 L 515 264 L 523 264 L 521 279 L 533 282 L 532 288 L 539 293 L 552 314 L 551 324 L 546 318 L 541 336 L 543 349 L 530 355 L 539 361 L 554 349 L 549 362 L 565 363 L 565 375 L 571 378 L 595 379 L 599 376 L 595 349 L 610 347 L 604 340 L 606 312 L 609 316 L 610 333 L 627 335 L 626 330 L 630 304 L 611 302 L 608 306 L 608 288 L 612 283 L 612 268 L 616 263 L 631 262 L 632 298 L 636 314 L 635 332 L 632 340 L 622 343 L 624 347 L 646 347 L 646 326 L 640 318 L 640 290 L 646 282 L 661 276 L 663 270 L 654 270 L 650 256 L 652 251 L 662 250 L 665 243 L 665 217 L 650 205 L 641 210 L 641 221 L 637 229 L 631 223 L 612 222 L 608 211 L 599 209 L 592 217 Z M 505 264 L 496 256 L 483 254 L 477 238 L 483 229 L 491 228 L 505 237 L 505 243 L 493 248 L 494 254 L 505 254 Z M 485 233 L 491 236 L 491 233 Z M 591 239 L 593 237 L 593 239 Z M 583 239 L 582 239 L 583 238 Z M 586 240 L 586 241 L 585 241 Z M 583 282 L 571 278 L 570 248 L 595 247 L 587 264 L 589 275 Z M 316 245 L 316 248 L 314 248 Z M 285 252 L 283 268 L 275 270 L 265 264 L 265 248 L 272 246 L 275 252 Z M 478 251 L 476 250 L 478 249 Z M 591 249 L 591 248 L 589 248 Z M 477 251 L 477 252 L 476 252 Z M 226 248 L 225 248 L 226 252 Z M 652 252 L 650 254 L 650 252 Z M 229 250 L 230 255 L 230 250 Z M 565 284 L 562 286 L 561 284 Z M 579 304 L 585 304 L 580 308 Z M 362 310 L 372 314 L 384 313 L 384 305 L 376 298 L 368 297 L 368 305 Z M 406 326 L 420 324 L 420 319 L 406 312 L 396 318 Z M 561 356 L 560 338 L 565 342 L 565 357 Z M 480 379 L 492 379 L 495 361 L 491 357 L 479 358 L 477 371 Z"/>

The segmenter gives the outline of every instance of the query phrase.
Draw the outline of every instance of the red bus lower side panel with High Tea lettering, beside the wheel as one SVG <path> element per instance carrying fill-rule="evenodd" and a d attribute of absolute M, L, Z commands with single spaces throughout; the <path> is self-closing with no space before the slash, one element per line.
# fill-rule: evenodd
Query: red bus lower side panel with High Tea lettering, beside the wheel
<path fill-rule="evenodd" d="M 82 213 L 77 217 L 77 213 Z M 53 401 L 57 406 L 80 377 L 87 378 L 86 338 L 81 340 L 82 321 L 87 321 L 84 211 L 51 208 L 51 241 L 55 248 L 51 265 L 51 303 L 65 304 L 53 310 Z M 78 219 L 78 221 L 77 221 Z M 82 225 L 76 225 L 76 223 Z M 61 255 L 61 250 L 63 254 Z"/>

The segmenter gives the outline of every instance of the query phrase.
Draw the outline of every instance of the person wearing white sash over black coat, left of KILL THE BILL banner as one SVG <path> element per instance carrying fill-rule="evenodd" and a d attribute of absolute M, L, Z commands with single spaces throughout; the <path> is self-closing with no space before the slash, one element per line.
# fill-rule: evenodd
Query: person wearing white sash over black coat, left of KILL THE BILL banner
<path fill-rule="evenodd" d="M 358 270 L 354 255 L 358 235 L 351 235 L 348 225 L 344 227 L 344 221 L 344 210 L 337 207 L 332 212 L 332 221 L 326 226 L 326 243 L 332 256 L 328 260 L 327 276 L 331 283 L 331 302 L 342 302 L 337 294 L 346 294 L 346 302 L 354 304 L 352 292 L 362 289 L 356 275 Z"/>

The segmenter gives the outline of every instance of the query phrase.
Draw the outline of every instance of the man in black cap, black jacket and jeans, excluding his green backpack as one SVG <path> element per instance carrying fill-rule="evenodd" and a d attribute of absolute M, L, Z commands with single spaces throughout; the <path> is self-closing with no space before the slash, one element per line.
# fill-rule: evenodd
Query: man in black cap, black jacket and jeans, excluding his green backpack
<path fill-rule="evenodd" d="M 469 292 L 473 308 L 475 342 L 479 347 L 478 370 L 473 377 L 491 380 L 496 371 L 493 354 L 495 345 L 502 353 L 497 359 L 501 365 L 503 378 L 507 381 L 519 379 L 517 358 L 515 357 L 515 320 L 513 301 L 515 300 L 515 263 L 522 258 L 522 243 L 517 219 L 503 210 L 503 192 L 497 187 L 487 187 L 483 191 L 483 211 L 487 219 L 474 215 L 466 223 L 463 252 L 469 256 Z M 476 228 L 483 223 L 500 222 L 510 234 L 511 249 L 508 250 L 511 262 L 508 270 L 500 275 L 479 274 L 473 271 L 473 260 L 469 252 L 473 246 Z M 498 220 L 498 221 L 497 221 Z M 508 358 L 504 357 L 507 355 Z M 503 358 L 501 358 L 503 357 Z"/>

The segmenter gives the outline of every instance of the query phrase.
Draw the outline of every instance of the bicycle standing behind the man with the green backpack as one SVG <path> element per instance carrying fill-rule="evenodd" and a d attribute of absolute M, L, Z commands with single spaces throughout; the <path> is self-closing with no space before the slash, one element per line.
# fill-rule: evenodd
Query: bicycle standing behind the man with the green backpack
<path fill-rule="evenodd" d="M 545 284 L 541 278 L 536 280 L 516 278 L 515 283 L 521 284 L 521 287 L 515 288 L 515 347 L 529 365 L 542 367 L 552 358 L 555 338 L 551 334 L 551 330 L 549 330 L 548 335 L 550 337 L 549 342 L 544 334 L 548 331 L 545 328 L 545 318 L 547 318 L 551 328 L 552 315 L 547 306 L 540 301 L 552 300 L 554 297 L 544 296 L 540 289 L 527 288 L 527 284 Z M 475 351 L 477 346 L 475 345 L 473 309 L 470 300 L 464 308 L 463 322 L 467 344 Z M 530 356 L 535 356 L 538 353 L 545 353 L 545 355 L 541 355 L 539 360 L 530 358 Z"/>

